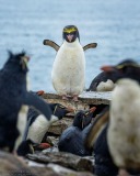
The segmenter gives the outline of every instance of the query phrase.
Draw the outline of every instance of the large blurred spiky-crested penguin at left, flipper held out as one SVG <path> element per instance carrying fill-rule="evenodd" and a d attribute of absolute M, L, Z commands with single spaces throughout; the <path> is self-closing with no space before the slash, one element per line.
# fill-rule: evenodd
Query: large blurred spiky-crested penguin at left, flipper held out
<path fill-rule="evenodd" d="M 13 54 L 0 70 L 0 148 L 13 152 L 22 141 L 27 107 L 33 106 L 50 119 L 51 110 L 45 101 L 28 92 L 25 52 Z"/>

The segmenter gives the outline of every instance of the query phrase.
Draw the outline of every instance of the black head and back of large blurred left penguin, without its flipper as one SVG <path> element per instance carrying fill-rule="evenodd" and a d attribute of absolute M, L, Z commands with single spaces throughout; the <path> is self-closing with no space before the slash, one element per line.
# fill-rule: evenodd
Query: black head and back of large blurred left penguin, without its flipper
<path fill-rule="evenodd" d="M 19 135 L 16 129 L 18 113 L 26 91 L 26 73 L 28 57 L 25 53 L 12 54 L 0 70 L 0 147 L 13 150 Z"/>

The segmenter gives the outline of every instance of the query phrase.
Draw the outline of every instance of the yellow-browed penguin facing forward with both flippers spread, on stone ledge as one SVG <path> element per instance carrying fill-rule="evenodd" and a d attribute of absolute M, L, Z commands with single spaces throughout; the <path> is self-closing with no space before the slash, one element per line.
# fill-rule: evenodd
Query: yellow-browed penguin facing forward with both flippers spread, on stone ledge
<path fill-rule="evenodd" d="M 91 43 L 82 47 L 80 34 L 75 25 L 67 25 L 62 31 L 63 43 L 61 46 L 52 41 L 45 40 L 44 44 L 57 51 L 51 70 L 51 81 L 58 95 L 63 100 L 72 97 L 78 101 L 78 96 L 85 86 L 85 56 L 84 51 L 94 48 L 96 43 Z"/>

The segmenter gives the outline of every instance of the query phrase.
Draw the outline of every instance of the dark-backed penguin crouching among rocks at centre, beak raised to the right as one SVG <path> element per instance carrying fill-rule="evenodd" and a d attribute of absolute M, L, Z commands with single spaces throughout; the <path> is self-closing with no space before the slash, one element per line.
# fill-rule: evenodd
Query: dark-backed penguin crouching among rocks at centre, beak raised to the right
<path fill-rule="evenodd" d="M 68 152 L 79 156 L 91 155 L 91 151 L 84 147 L 84 139 L 91 128 L 94 110 L 95 107 L 77 112 L 72 125 L 67 128 L 59 138 L 58 148 L 60 152 Z"/>

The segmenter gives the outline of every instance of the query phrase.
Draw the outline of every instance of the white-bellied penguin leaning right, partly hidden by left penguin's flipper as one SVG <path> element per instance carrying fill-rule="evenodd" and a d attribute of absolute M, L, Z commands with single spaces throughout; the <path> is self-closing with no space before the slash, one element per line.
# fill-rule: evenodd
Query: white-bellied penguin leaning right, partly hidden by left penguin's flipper
<path fill-rule="evenodd" d="M 49 122 L 46 120 L 44 114 L 32 107 L 30 108 L 27 113 L 27 127 L 23 141 L 30 139 L 35 143 L 40 143 L 48 128 L 54 122 L 62 119 L 67 113 L 73 111 L 73 109 L 67 108 L 60 103 L 49 103 L 49 107 L 52 111 L 52 116 Z"/>

